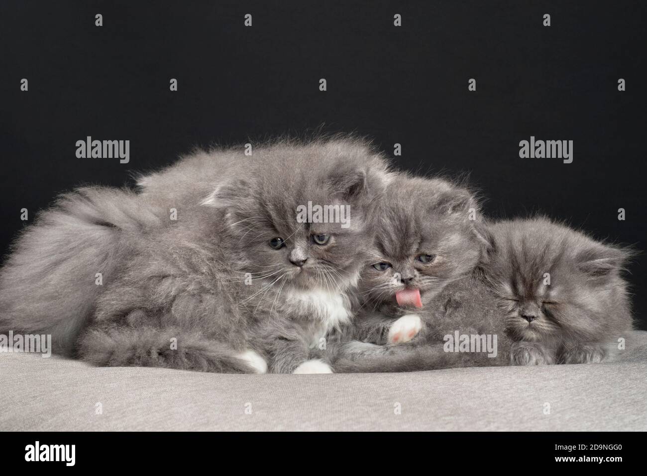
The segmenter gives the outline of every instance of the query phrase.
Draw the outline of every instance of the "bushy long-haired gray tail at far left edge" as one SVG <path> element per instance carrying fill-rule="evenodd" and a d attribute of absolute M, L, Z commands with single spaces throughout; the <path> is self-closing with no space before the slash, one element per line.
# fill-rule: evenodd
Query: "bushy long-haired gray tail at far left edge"
<path fill-rule="evenodd" d="M 21 233 L 0 270 L 0 333 L 51 334 L 54 352 L 70 354 L 123 254 L 124 232 L 158 222 L 127 190 L 85 187 L 60 196 Z"/>

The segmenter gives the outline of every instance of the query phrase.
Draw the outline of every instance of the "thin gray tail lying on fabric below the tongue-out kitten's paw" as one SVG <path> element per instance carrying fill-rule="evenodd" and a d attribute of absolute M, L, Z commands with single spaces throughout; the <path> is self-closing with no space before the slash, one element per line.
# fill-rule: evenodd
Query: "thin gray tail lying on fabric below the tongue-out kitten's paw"
<path fill-rule="evenodd" d="M 474 352 L 445 352 L 442 344 L 421 346 L 373 346 L 362 343 L 364 348 L 341 352 L 334 361 L 334 372 L 414 372 L 455 367 L 489 367 L 506 365 L 505 357 L 487 357 Z M 369 347 L 372 346 L 372 347 Z"/>

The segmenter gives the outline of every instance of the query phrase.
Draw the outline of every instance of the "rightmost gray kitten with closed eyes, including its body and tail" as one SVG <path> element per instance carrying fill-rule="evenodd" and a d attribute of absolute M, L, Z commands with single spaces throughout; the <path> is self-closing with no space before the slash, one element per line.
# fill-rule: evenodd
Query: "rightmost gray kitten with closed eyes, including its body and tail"
<path fill-rule="evenodd" d="M 488 245 L 472 273 L 417 312 L 422 326 L 410 326 L 413 334 L 402 336 L 412 339 L 408 345 L 395 347 L 392 339 L 397 313 L 358 319 L 358 339 L 390 346 L 349 345 L 336 370 L 589 363 L 610 357 L 610 344 L 631 330 L 622 278 L 630 250 L 541 217 L 491 223 L 482 232 Z M 447 354 L 441 343 L 456 330 L 497 335 L 497 356 Z M 373 358 L 353 362 L 349 356 Z"/>

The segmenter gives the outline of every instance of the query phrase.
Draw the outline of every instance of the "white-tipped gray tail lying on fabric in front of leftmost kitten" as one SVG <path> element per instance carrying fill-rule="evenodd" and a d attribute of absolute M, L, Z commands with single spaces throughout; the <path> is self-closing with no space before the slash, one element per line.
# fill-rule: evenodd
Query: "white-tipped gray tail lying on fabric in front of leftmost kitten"
<path fill-rule="evenodd" d="M 267 372 L 265 359 L 252 350 L 237 352 L 199 332 L 151 326 L 89 328 L 78 356 L 100 367 L 166 367 L 225 374 Z"/>

